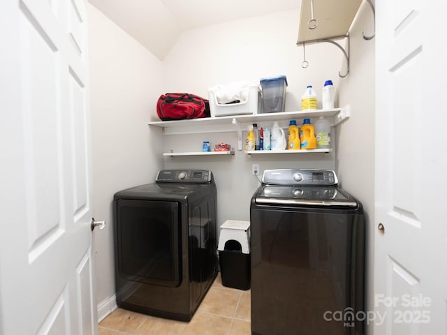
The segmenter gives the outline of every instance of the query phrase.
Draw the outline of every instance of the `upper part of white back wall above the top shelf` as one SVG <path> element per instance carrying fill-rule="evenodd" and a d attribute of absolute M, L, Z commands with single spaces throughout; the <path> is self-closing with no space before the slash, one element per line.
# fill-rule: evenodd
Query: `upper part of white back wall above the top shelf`
<path fill-rule="evenodd" d="M 301 109 L 308 84 L 321 94 L 325 80 L 338 84 L 342 53 L 328 43 L 308 45 L 309 68 L 301 67 L 298 10 L 185 31 L 163 61 L 163 90 L 207 97 L 214 84 L 286 75 L 286 111 Z"/>

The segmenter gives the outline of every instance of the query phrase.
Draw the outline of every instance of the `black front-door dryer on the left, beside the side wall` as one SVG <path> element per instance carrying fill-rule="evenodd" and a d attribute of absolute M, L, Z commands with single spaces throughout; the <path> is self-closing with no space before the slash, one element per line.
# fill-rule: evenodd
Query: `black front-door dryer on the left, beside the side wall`
<path fill-rule="evenodd" d="M 189 321 L 217 276 L 210 170 L 161 170 L 114 197 L 117 304 Z"/>

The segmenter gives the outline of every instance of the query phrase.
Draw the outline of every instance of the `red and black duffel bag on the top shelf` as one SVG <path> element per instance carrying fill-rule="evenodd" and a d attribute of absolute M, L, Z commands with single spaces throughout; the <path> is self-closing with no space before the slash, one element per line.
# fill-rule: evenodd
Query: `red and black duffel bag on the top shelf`
<path fill-rule="evenodd" d="M 209 117 L 210 102 L 190 93 L 162 94 L 156 103 L 156 114 L 163 121 Z"/>

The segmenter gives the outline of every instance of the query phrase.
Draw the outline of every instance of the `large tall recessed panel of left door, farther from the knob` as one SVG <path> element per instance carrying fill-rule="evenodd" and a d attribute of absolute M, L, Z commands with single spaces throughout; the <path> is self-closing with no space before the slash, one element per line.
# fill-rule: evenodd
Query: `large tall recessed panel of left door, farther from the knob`
<path fill-rule="evenodd" d="M 59 54 L 27 8 L 20 12 L 24 158 L 30 259 L 58 232 L 61 222 Z M 47 196 L 42 197 L 42 194 Z M 60 235 L 60 234 L 59 234 Z"/>

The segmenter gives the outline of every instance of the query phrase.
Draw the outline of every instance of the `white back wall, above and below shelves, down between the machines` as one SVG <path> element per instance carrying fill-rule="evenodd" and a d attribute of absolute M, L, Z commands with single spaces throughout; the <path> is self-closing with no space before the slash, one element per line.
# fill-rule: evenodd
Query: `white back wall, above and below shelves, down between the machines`
<path fill-rule="evenodd" d="M 310 66 L 303 69 L 302 47 L 295 44 L 298 21 L 298 10 L 290 10 L 186 31 L 163 62 L 163 91 L 188 91 L 207 97 L 208 87 L 214 84 L 286 75 L 285 110 L 300 110 L 301 96 L 307 84 L 313 84 L 321 94 L 325 80 L 338 83 L 342 53 L 329 44 L 309 45 L 306 57 Z M 297 121 L 302 124 L 302 119 Z M 244 133 L 244 137 L 246 135 Z M 209 140 L 212 145 L 217 142 L 237 145 L 235 133 L 164 135 L 163 148 L 165 151 L 200 151 L 204 140 Z M 261 171 L 269 168 L 335 168 L 332 154 L 328 157 L 325 154 L 251 157 L 236 150 L 233 158 L 165 158 L 166 168 L 209 168 L 214 172 L 218 225 L 227 219 L 249 220 L 249 202 L 258 186 L 251 175 L 252 163 L 259 163 Z"/>

